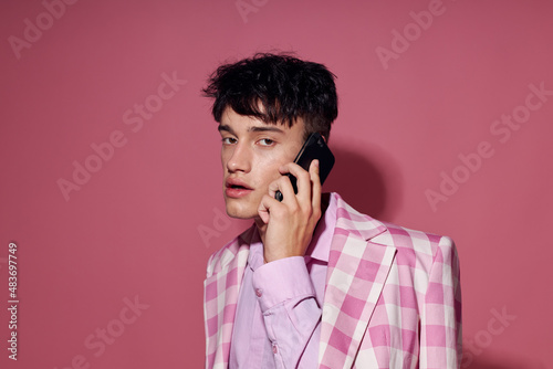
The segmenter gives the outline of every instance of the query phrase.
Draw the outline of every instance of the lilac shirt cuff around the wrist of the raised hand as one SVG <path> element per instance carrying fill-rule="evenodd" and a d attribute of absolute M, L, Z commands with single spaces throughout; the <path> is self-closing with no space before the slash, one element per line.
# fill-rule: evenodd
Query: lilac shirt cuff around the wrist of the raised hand
<path fill-rule="evenodd" d="M 303 256 L 263 264 L 253 272 L 252 282 L 262 313 L 292 298 L 315 296 Z"/>

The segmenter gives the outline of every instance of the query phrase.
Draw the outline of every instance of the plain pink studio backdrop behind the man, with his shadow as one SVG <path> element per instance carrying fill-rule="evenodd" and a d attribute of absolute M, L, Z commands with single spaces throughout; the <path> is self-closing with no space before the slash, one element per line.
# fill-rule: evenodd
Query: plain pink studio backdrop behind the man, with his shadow
<path fill-rule="evenodd" d="M 273 49 L 338 76 L 325 190 L 456 241 L 463 368 L 553 368 L 553 96 L 528 97 L 553 91 L 552 2 L 243 0 L 243 14 L 236 0 L 66 2 L 45 1 L 55 17 L 38 0 L 0 4 L 2 368 L 202 366 L 205 265 L 249 223 L 219 215 L 220 143 L 200 88 L 220 62 Z M 517 128 L 494 123 L 512 114 Z M 91 145 L 113 135 L 121 147 L 95 161 Z M 58 181 L 87 158 L 96 171 L 64 198 Z M 432 208 L 444 175 L 461 183 Z"/>

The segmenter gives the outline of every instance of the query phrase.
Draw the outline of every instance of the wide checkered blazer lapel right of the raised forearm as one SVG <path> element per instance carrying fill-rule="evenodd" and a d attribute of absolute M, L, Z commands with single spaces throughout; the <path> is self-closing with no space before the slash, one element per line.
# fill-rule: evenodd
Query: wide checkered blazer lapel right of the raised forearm
<path fill-rule="evenodd" d="M 320 368 L 353 365 L 396 253 L 394 246 L 371 242 L 386 226 L 340 197 L 336 215 L 323 301 Z"/>

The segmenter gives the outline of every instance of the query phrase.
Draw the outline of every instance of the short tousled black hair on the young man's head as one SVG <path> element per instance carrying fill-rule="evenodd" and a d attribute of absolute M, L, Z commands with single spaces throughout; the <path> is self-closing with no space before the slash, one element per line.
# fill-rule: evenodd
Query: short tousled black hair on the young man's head
<path fill-rule="evenodd" d="M 328 139 L 338 114 L 336 76 L 326 66 L 290 54 L 257 53 L 215 71 L 204 95 L 215 98 L 216 122 L 227 107 L 268 124 L 305 124 L 305 137 L 320 133 Z"/>

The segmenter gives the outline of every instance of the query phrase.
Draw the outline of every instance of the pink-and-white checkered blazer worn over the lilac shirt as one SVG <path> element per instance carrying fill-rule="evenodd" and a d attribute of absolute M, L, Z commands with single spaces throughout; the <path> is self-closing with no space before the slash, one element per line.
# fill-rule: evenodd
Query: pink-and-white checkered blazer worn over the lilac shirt
<path fill-rule="evenodd" d="M 331 196 L 337 220 L 319 368 L 459 368 L 461 289 L 451 239 L 379 222 Z M 209 259 L 206 368 L 228 368 L 253 226 Z"/>

